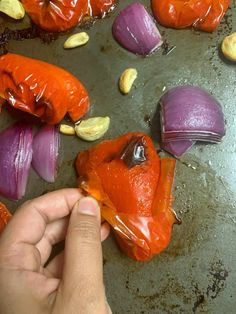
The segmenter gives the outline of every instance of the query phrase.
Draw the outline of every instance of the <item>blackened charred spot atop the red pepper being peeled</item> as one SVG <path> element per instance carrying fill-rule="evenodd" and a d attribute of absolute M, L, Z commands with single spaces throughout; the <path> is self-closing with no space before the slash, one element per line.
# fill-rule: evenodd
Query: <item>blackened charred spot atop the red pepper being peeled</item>
<path fill-rule="evenodd" d="M 123 149 L 120 159 L 131 169 L 147 160 L 144 137 L 132 137 Z"/>

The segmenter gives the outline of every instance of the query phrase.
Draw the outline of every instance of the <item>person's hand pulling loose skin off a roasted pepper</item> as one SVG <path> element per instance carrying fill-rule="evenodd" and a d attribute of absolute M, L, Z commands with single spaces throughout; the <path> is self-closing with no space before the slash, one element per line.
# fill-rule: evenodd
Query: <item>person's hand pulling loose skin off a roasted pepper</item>
<path fill-rule="evenodd" d="M 100 226 L 97 202 L 78 189 L 23 204 L 0 237 L 0 313 L 111 313 L 101 249 L 109 226 Z M 64 252 L 45 267 L 64 238 Z"/>

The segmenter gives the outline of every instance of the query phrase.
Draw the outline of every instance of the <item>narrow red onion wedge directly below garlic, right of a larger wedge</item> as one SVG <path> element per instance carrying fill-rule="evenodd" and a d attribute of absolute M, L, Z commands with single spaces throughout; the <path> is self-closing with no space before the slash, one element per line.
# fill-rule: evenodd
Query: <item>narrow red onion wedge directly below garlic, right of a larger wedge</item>
<path fill-rule="evenodd" d="M 57 128 L 51 125 L 40 129 L 34 137 L 32 166 L 47 182 L 54 182 L 56 179 L 59 139 Z"/>

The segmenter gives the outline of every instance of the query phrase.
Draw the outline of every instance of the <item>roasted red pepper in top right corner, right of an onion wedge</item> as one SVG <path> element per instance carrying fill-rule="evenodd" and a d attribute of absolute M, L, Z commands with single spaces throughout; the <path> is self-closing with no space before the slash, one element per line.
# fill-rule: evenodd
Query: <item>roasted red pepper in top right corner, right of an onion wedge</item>
<path fill-rule="evenodd" d="M 227 11 L 230 0 L 151 0 L 155 18 L 172 28 L 193 26 L 214 31 Z"/>

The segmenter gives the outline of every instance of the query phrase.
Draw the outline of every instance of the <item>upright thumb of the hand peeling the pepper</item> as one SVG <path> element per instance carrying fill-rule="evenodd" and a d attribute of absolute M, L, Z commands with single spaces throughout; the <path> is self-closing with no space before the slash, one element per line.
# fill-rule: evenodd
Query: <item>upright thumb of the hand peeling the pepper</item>
<path fill-rule="evenodd" d="M 105 300 L 100 224 L 100 208 L 93 198 L 76 203 L 65 243 L 63 294 L 83 307 L 81 313 L 93 313 Z"/>

